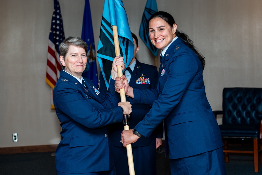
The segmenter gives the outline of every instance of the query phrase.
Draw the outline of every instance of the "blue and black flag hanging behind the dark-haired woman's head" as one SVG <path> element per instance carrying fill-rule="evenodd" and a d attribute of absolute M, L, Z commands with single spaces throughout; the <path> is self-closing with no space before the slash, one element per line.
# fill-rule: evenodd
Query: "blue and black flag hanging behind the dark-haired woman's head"
<path fill-rule="evenodd" d="M 158 12 L 156 0 L 148 0 L 146 2 L 145 10 L 143 13 L 143 17 L 139 29 L 140 38 L 144 41 L 145 45 L 155 56 L 157 55 L 158 49 L 150 41 L 148 20 L 151 17 L 151 15 L 156 12 Z"/>

